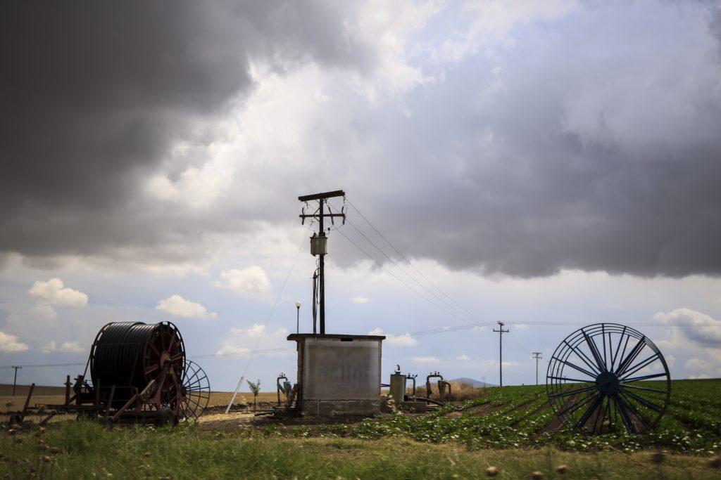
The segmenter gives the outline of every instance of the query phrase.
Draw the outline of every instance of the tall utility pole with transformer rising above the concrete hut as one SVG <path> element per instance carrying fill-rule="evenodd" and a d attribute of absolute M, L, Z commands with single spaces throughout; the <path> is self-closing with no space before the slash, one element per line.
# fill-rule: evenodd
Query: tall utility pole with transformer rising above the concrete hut
<path fill-rule="evenodd" d="M 345 197 L 345 191 L 342 190 L 335 190 L 335 191 L 327 191 L 322 194 L 312 194 L 312 195 L 303 195 L 298 196 L 299 201 L 309 202 L 313 200 L 318 201 L 318 209 L 313 214 L 306 214 L 305 209 L 301 212 L 298 217 L 301 217 L 301 224 L 303 224 L 306 221 L 306 218 L 313 218 L 318 220 L 318 235 L 315 233 L 311 237 L 311 255 L 318 255 L 318 269 L 317 269 L 317 276 L 314 274 L 314 292 L 318 291 L 318 304 L 320 307 L 320 334 L 325 334 L 325 255 L 328 253 L 327 250 L 327 237 L 325 235 L 325 228 L 323 219 L 326 217 L 330 218 L 330 221 L 333 222 L 334 217 L 342 217 L 343 223 L 345 223 L 345 213 L 339 212 L 339 213 L 332 213 L 330 211 L 330 207 L 328 207 L 328 213 L 324 212 L 323 206 L 324 204 L 327 204 L 328 199 L 334 198 L 336 196 L 344 196 Z M 333 222 L 335 223 L 335 222 Z M 317 284 L 316 284 L 317 281 Z M 317 289 L 315 286 L 317 285 Z M 313 299 L 313 303 L 315 304 L 315 299 Z M 315 326 L 315 315 L 313 317 L 313 325 Z"/>

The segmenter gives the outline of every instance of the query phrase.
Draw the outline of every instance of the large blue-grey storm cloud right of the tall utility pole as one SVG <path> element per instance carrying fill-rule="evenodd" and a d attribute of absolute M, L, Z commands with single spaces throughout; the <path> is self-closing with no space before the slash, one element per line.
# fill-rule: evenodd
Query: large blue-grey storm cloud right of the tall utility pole
<path fill-rule="evenodd" d="M 356 203 L 405 253 L 458 270 L 720 275 L 709 18 L 704 4 L 609 4 L 446 67 L 442 88 L 407 99 L 411 119 L 363 132 L 385 154 L 365 170 L 388 178 L 363 178 Z M 337 261 L 354 254 L 334 241 Z"/>

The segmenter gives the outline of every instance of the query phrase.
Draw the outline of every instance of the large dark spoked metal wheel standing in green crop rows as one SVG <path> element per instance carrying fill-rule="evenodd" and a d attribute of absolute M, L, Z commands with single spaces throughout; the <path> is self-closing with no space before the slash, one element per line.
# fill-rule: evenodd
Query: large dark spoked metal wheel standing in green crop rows
<path fill-rule="evenodd" d="M 663 354 L 641 332 L 598 323 L 558 345 L 546 390 L 558 417 L 573 430 L 643 433 L 658 425 L 668 408 L 671 375 Z"/>

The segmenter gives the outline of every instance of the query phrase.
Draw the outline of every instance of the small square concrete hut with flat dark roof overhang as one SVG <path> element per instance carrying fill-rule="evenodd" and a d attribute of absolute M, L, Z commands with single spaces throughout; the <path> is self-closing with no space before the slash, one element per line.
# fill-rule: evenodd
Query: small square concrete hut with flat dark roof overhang
<path fill-rule="evenodd" d="M 289 335 L 298 342 L 299 403 L 308 415 L 380 412 L 381 342 L 376 335 Z"/>

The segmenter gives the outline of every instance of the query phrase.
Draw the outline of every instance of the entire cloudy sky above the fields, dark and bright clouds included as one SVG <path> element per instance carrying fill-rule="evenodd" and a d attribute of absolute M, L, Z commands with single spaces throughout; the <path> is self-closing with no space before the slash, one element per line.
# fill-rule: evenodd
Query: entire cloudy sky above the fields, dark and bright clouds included
<path fill-rule="evenodd" d="M 496 383 L 497 321 L 505 383 L 593 322 L 645 332 L 676 378 L 721 376 L 718 2 L 0 9 L 0 366 L 169 320 L 215 389 L 261 334 L 289 350 L 249 376 L 295 380 L 297 197 L 344 189 L 327 330 L 389 335 L 384 376 Z"/>

